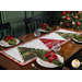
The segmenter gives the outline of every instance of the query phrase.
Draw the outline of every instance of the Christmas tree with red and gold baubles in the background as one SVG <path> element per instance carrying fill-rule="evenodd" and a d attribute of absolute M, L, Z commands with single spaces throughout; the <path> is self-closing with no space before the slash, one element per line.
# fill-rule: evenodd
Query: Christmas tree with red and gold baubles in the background
<path fill-rule="evenodd" d="M 61 27 L 81 31 L 81 11 L 62 11 L 59 24 Z"/>

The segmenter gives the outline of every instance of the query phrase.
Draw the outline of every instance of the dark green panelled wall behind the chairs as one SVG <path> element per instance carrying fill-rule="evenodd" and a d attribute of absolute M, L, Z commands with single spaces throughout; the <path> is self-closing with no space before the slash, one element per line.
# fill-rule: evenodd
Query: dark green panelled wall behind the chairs
<path fill-rule="evenodd" d="M 48 12 L 47 11 L 1 11 L 0 23 L 10 22 L 14 37 L 20 37 L 25 34 L 25 17 L 42 16 L 43 23 L 47 23 Z"/>

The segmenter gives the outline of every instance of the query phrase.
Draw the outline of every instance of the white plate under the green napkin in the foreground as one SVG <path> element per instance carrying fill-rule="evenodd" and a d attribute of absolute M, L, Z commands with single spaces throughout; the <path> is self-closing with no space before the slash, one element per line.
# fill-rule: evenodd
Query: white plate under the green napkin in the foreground
<path fill-rule="evenodd" d="M 63 58 L 62 58 L 61 56 L 59 56 L 59 55 L 57 55 L 57 56 L 58 56 L 59 60 L 60 60 L 61 62 L 63 62 Z M 42 60 L 42 59 L 38 58 L 38 57 L 37 57 L 37 59 L 36 59 L 36 62 L 37 62 L 38 65 L 43 66 L 43 67 L 46 67 L 46 68 L 56 68 L 56 67 L 58 67 L 57 65 L 55 65 L 55 63 L 49 63 L 48 61 L 44 61 L 44 60 Z"/>

